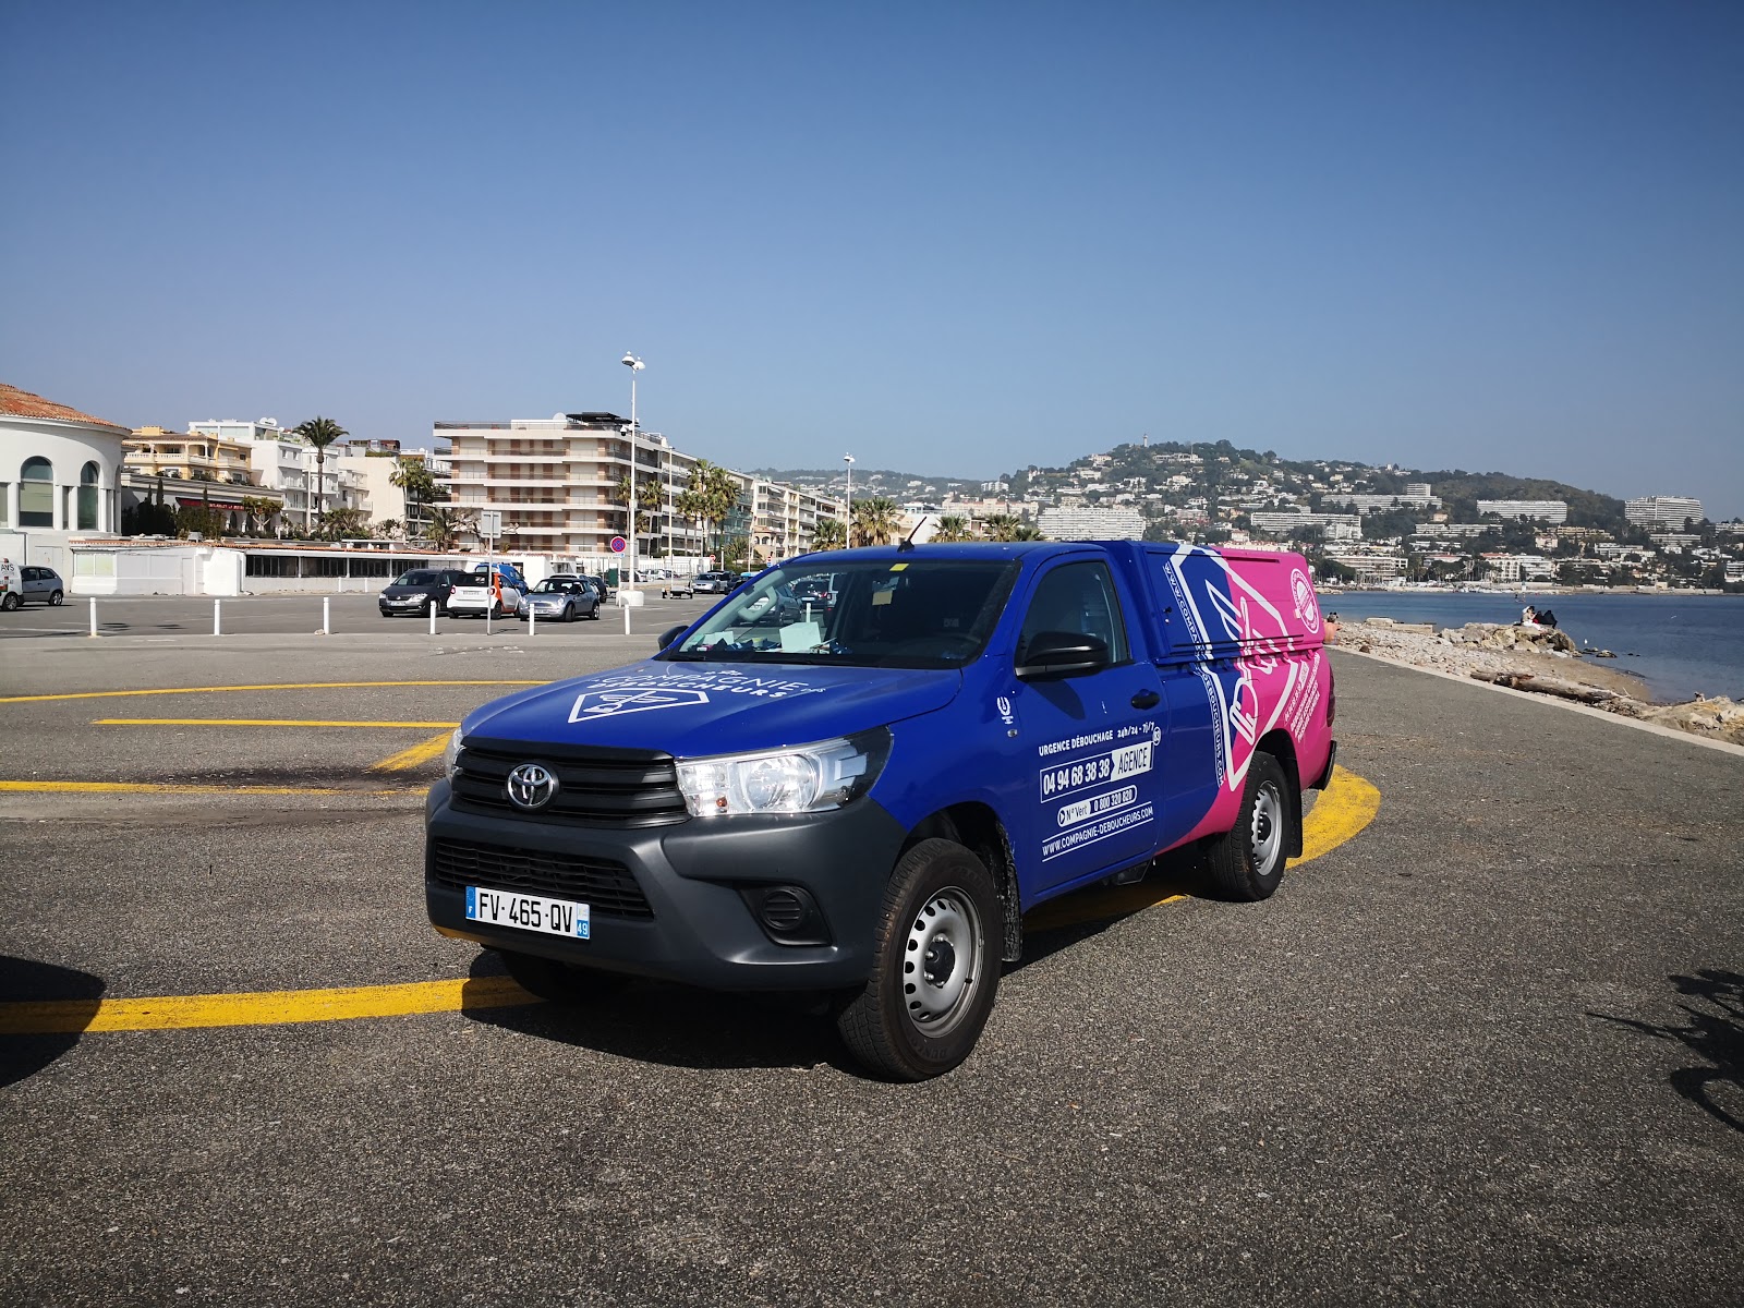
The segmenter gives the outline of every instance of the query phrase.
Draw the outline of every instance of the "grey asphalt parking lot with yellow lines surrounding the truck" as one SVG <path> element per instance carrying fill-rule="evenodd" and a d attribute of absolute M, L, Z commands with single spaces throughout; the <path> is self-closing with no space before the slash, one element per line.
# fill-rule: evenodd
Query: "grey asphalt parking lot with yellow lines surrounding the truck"
<path fill-rule="evenodd" d="M 424 921 L 448 724 L 706 600 L 108 603 L 0 624 L 9 1301 L 1744 1298 L 1737 757 L 1338 656 L 1373 823 L 1264 903 L 1036 914 L 891 1087 L 800 1005 L 562 1012 Z"/>

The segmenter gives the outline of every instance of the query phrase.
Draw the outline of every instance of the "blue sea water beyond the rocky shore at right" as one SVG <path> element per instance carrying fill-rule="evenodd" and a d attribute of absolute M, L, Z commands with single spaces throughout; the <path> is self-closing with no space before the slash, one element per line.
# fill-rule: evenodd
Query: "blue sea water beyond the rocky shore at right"
<path fill-rule="evenodd" d="M 1617 654 L 1615 661 L 1587 661 L 1636 673 L 1653 699 L 1723 694 L 1744 701 L 1744 595 L 1327 591 L 1320 596 L 1320 607 L 1343 619 L 1397 617 L 1437 628 L 1517 623 L 1528 603 L 1550 609 L 1557 628 L 1584 649 Z"/>

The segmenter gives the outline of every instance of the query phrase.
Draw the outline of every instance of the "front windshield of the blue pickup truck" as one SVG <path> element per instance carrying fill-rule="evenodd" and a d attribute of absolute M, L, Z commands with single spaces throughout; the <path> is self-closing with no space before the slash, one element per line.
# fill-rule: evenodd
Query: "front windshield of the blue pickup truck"
<path fill-rule="evenodd" d="M 1017 569 L 919 551 L 895 563 L 788 563 L 748 582 L 663 657 L 957 668 L 992 635 Z"/>

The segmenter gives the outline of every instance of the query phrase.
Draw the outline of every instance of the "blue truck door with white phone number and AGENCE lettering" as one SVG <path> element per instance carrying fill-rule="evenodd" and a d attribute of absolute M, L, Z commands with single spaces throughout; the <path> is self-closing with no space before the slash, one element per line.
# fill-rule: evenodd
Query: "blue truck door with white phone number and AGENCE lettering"
<path fill-rule="evenodd" d="M 1013 666 L 1022 759 L 1034 767 L 1018 869 L 1025 898 L 1142 862 L 1155 851 L 1162 691 L 1156 668 L 1134 659 L 1130 603 L 1102 560 L 1045 570 L 1024 612 Z M 1095 637 L 1099 671 L 1017 678 L 1041 633 Z"/>

